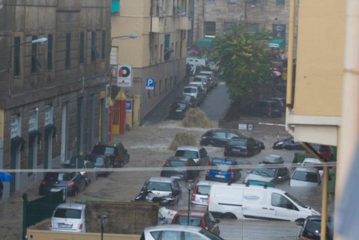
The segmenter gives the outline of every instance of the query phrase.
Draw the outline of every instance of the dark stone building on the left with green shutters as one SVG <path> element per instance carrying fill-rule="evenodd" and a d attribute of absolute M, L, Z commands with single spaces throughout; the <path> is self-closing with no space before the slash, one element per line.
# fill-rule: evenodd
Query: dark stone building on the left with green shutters
<path fill-rule="evenodd" d="M 107 139 L 111 1 L 1 4 L 0 168 L 59 167 Z M 4 195 L 43 171 L 11 173 Z"/>

